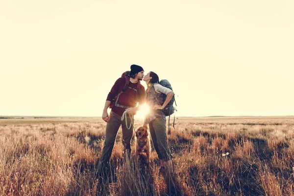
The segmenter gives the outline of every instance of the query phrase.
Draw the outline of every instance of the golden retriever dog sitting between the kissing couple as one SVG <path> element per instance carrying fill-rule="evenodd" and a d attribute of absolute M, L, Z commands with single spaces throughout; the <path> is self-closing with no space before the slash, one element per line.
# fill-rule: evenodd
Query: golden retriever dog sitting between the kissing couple
<path fill-rule="evenodd" d="M 136 160 L 139 161 L 139 154 L 146 153 L 147 164 L 150 167 L 150 136 L 147 125 L 140 126 L 136 131 Z"/>

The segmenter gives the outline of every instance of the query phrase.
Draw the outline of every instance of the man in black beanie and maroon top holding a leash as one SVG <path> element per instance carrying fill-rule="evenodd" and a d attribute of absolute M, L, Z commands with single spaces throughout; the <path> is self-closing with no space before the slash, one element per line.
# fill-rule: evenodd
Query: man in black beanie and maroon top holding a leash
<path fill-rule="evenodd" d="M 123 154 L 124 156 L 125 154 L 128 156 L 130 155 L 133 125 L 131 125 L 130 129 L 127 129 L 127 126 L 132 122 L 129 115 L 135 115 L 140 104 L 144 103 L 145 88 L 140 84 L 143 77 L 143 68 L 138 65 L 131 65 L 129 76 L 117 79 L 106 98 L 102 119 L 107 125 L 104 147 L 99 161 L 100 170 L 103 169 L 103 171 L 105 171 L 109 166 L 115 139 L 121 125 L 123 130 Z M 127 80 L 129 80 L 129 82 L 127 82 Z M 126 85 L 127 83 L 129 83 L 128 87 Z M 137 102 L 139 102 L 139 106 L 137 106 Z M 107 108 L 109 106 L 112 108 L 110 115 L 107 113 Z M 128 114 L 126 115 L 128 125 L 126 125 L 125 119 L 122 121 L 122 115 L 125 110 Z"/>

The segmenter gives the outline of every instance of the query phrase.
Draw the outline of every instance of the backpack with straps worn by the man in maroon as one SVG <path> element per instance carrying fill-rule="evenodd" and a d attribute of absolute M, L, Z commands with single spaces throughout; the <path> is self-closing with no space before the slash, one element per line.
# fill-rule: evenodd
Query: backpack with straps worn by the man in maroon
<path fill-rule="evenodd" d="M 125 92 L 127 89 L 131 89 L 131 90 L 133 90 L 133 91 L 136 91 L 136 93 L 137 93 L 137 96 L 136 96 L 136 105 L 137 105 L 137 103 L 138 103 L 138 92 L 140 92 L 140 86 L 141 86 L 140 81 L 137 82 L 137 89 L 135 89 L 135 88 L 129 87 L 129 84 L 130 84 L 130 71 L 126 71 L 126 72 L 124 72 L 124 73 L 122 74 L 121 77 L 125 78 L 125 84 L 124 84 L 124 87 L 123 87 L 122 91 L 121 91 L 120 93 L 118 93 L 118 94 L 113 98 L 113 100 L 112 100 L 111 103 L 110 103 L 109 108 L 113 108 L 114 106 L 116 106 L 116 107 L 122 107 L 122 108 L 125 108 L 125 109 L 126 109 L 126 108 L 130 108 L 130 106 L 125 106 L 125 105 L 118 104 L 118 100 L 119 100 L 119 98 L 120 98 L 120 95 L 121 95 L 123 92 Z"/>

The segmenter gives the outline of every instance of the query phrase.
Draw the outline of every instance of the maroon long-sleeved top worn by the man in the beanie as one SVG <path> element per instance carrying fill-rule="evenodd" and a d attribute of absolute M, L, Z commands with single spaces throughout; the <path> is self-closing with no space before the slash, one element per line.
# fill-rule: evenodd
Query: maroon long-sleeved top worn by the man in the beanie
<path fill-rule="evenodd" d="M 115 96 L 117 94 L 119 94 L 123 90 L 124 85 L 125 85 L 125 78 L 120 77 L 119 79 L 117 79 L 117 81 L 112 86 L 110 92 L 108 93 L 108 96 L 107 96 L 106 100 L 112 101 L 115 98 Z M 130 82 L 129 87 L 137 89 L 137 83 Z M 128 88 L 125 92 L 123 92 L 120 95 L 119 100 L 118 100 L 118 104 L 125 105 L 125 106 L 136 107 L 136 96 L 137 96 L 137 93 L 134 90 Z M 144 103 L 144 101 L 145 101 L 144 99 L 145 99 L 145 88 L 141 84 L 140 85 L 140 90 L 138 92 L 139 104 Z M 114 113 L 122 116 L 125 109 L 121 108 L 121 107 L 115 107 L 114 106 L 111 109 L 111 111 L 113 111 Z"/>

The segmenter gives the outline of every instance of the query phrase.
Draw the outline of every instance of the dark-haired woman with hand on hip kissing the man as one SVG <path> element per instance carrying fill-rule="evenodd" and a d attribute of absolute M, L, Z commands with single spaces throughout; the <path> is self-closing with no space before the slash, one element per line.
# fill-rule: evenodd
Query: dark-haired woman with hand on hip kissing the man
<path fill-rule="evenodd" d="M 147 83 L 145 100 L 150 107 L 144 124 L 149 124 L 153 146 L 160 160 L 160 165 L 172 172 L 172 153 L 168 146 L 166 116 L 162 109 L 170 102 L 174 93 L 171 89 L 159 84 L 159 77 L 154 72 L 147 73 L 143 80 Z M 163 100 L 164 94 L 167 95 L 165 101 Z"/>

